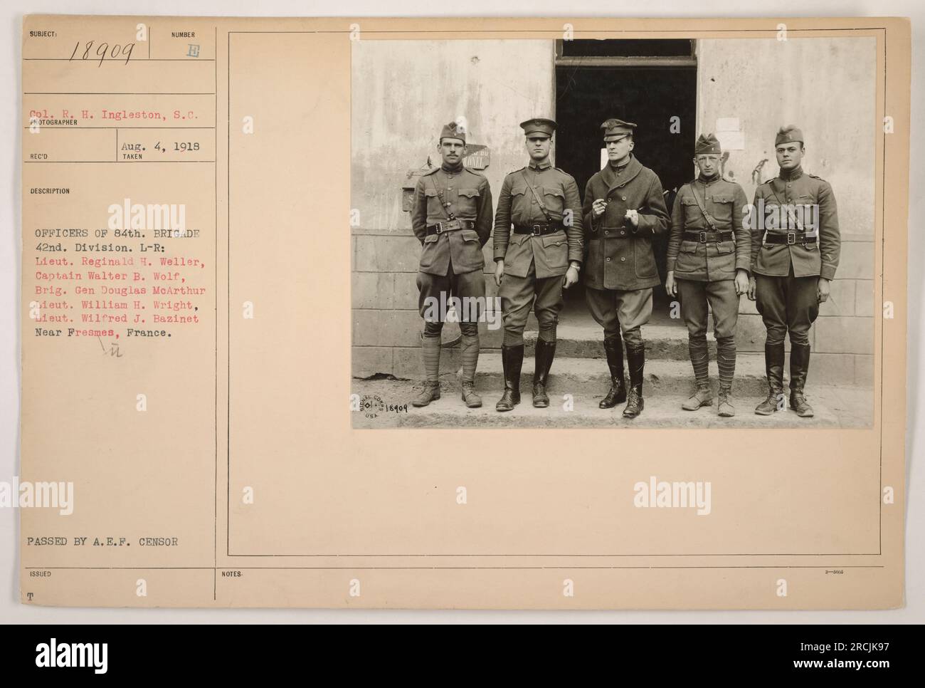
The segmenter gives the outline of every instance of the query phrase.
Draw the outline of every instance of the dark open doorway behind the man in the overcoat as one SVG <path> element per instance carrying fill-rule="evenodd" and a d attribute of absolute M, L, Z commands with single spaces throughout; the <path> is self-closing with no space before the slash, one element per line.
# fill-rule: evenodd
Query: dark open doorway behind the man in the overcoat
<path fill-rule="evenodd" d="M 601 122 L 610 117 L 635 122 L 634 154 L 659 175 L 671 211 L 674 192 L 694 176 L 697 64 L 692 42 L 568 41 L 560 46 L 556 166 L 575 178 L 584 201 L 585 184 L 601 168 Z M 670 129 L 673 117 L 679 118 L 677 133 Z M 662 282 L 667 245 L 667 233 L 654 244 Z M 679 322 L 667 316 L 663 289 L 654 290 L 654 302 L 653 322 Z M 583 303 L 583 291 L 570 289 L 564 315 L 578 312 Z"/>

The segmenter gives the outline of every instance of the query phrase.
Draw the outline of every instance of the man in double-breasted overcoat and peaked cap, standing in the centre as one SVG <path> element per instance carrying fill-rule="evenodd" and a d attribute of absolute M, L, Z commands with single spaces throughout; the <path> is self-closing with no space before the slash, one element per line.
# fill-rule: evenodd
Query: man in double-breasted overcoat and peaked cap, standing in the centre
<path fill-rule="evenodd" d="M 644 406 L 646 345 L 640 326 L 652 315 L 652 287 L 660 284 L 652 238 L 668 227 L 661 181 L 633 155 L 635 126 L 613 118 L 600 125 L 609 159 L 588 180 L 583 208 L 587 306 L 604 328 L 611 371 L 611 390 L 598 406 L 612 408 L 626 401 L 625 418 L 635 418 Z M 621 331 L 630 369 L 628 395 Z"/>

